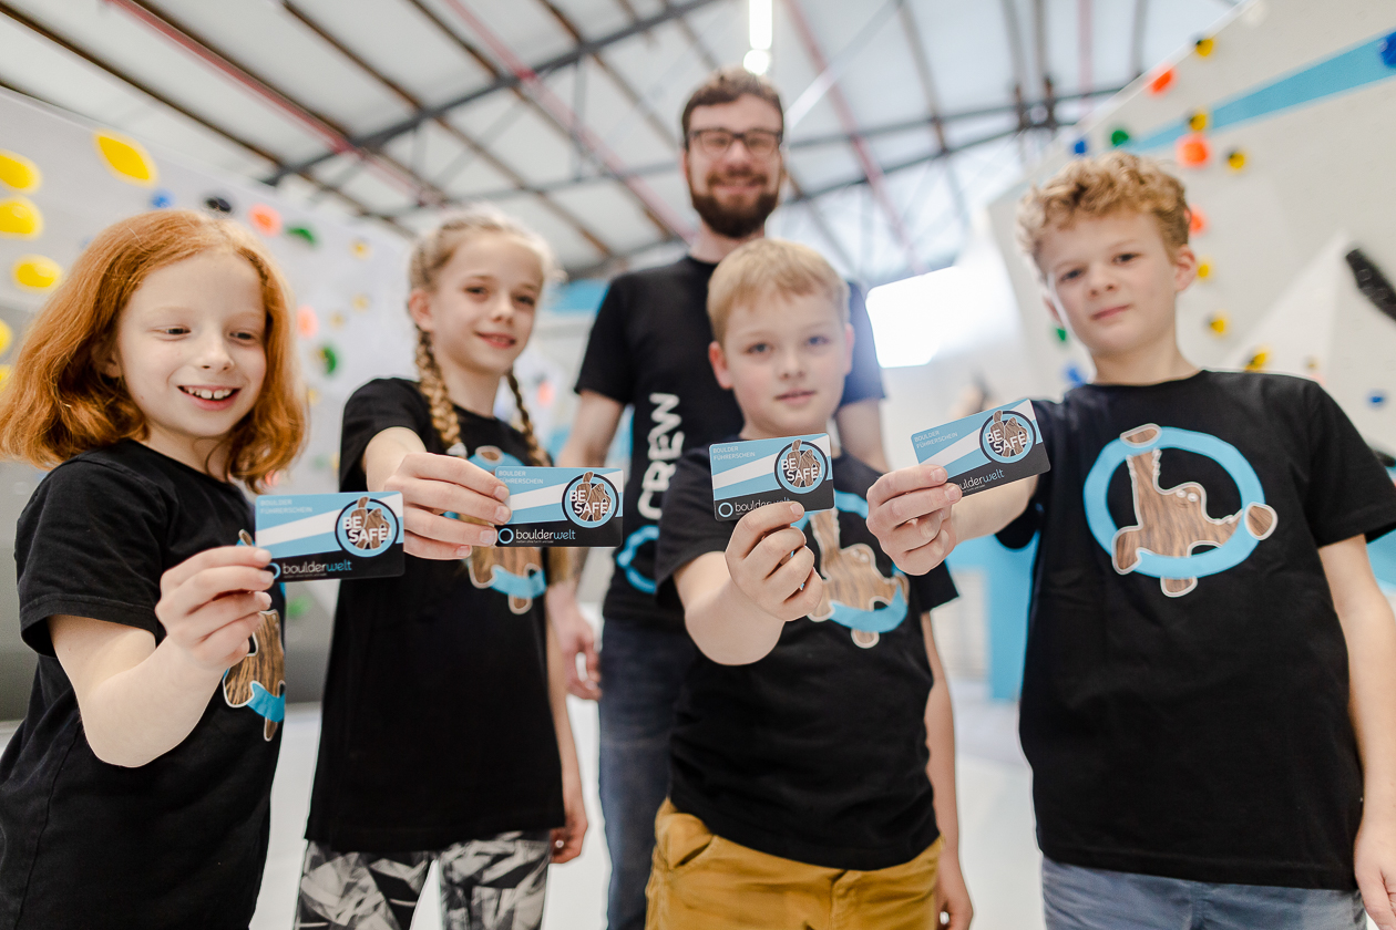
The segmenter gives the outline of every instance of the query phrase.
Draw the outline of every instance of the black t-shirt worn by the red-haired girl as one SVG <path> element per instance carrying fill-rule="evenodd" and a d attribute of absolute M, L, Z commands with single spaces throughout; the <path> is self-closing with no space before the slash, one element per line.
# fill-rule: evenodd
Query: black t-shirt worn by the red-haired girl
<path fill-rule="evenodd" d="M 15 538 L 20 623 L 39 668 L 0 759 L 0 926 L 253 919 L 285 700 L 281 586 L 271 590 L 276 618 L 257 634 L 262 661 L 230 669 L 184 742 L 140 768 L 92 754 L 47 625 L 59 613 L 88 616 L 161 641 L 161 574 L 251 528 L 235 485 L 133 441 L 75 456 L 39 484 Z"/>

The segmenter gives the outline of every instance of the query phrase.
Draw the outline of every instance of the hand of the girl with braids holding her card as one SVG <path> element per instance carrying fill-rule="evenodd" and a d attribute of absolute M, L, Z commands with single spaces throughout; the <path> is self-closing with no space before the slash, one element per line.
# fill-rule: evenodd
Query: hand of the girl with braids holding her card
<path fill-rule="evenodd" d="M 408 453 L 383 489 L 402 492 L 403 548 L 422 559 L 463 559 L 473 545 L 494 545 L 494 527 L 510 519 L 508 488 L 465 459 Z"/>

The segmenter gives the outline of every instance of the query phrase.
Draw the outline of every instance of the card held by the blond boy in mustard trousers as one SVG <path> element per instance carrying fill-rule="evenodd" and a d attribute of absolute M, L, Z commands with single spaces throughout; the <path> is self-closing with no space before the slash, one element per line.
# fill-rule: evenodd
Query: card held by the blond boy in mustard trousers
<path fill-rule="evenodd" d="M 712 463 L 712 513 L 719 520 L 740 520 L 757 508 L 796 501 L 805 513 L 833 509 L 833 464 L 829 434 L 715 442 Z"/>

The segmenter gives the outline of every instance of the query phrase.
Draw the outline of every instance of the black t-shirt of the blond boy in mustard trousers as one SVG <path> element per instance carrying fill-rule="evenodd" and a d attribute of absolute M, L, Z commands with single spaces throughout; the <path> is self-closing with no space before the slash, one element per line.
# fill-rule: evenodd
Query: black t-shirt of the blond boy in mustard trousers
<path fill-rule="evenodd" d="M 944 567 L 902 574 L 867 528 L 878 473 L 852 456 L 832 467 L 836 510 L 799 524 L 828 601 L 786 623 L 758 662 L 719 665 L 698 653 L 678 697 L 670 799 L 751 849 L 828 869 L 885 869 L 938 835 L 921 613 L 952 600 L 955 586 Z M 681 615 L 674 572 L 726 549 L 736 526 L 713 517 L 708 449 L 690 450 L 660 521 L 660 600 Z"/>

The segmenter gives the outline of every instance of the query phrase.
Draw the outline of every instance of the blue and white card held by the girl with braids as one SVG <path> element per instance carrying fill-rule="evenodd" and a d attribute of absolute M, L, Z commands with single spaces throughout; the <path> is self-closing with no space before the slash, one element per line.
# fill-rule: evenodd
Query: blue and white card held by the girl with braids
<path fill-rule="evenodd" d="M 494 477 L 508 487 L 514 512 L 496 545 L 621 544 L 625 474 L 618 468 L 500 466 Z"/>

